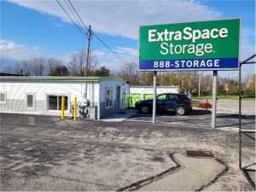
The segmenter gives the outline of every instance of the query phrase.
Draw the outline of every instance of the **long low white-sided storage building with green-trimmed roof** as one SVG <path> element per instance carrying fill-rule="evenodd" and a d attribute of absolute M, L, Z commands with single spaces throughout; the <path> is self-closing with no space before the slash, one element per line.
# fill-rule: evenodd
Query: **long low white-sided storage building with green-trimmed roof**
<path fill-rule="evenodd" d="M 0 113 L 73 115 L 77 97 L 78 115 L 101 119 L 129 105 L 129 84 L 117 77 L 0 77 Z"/>

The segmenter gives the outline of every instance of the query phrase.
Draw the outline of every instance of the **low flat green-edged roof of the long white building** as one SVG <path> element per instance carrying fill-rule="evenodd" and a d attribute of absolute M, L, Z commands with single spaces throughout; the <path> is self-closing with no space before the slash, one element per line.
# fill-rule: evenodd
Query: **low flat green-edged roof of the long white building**
<path fill-rule="evenodd" d="M 75 76 L 1 76 L 0 82 L 100 82 L 117 80 L 125 82 L 116 76 L 108 77 L 75 77 Z"/>

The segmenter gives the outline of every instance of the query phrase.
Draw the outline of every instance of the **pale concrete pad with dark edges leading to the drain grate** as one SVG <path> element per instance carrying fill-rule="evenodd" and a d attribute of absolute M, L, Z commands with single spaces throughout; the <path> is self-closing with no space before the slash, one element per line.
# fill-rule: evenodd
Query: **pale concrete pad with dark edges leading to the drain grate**
<path fill-rule="evenodd" d="M 192 158 L 183 154 L 174 155 L 183 169 L 150 183 L 142 191 L 195 191 L 207 188 L 227 171 L 227 167 L 218 160 Z"/>

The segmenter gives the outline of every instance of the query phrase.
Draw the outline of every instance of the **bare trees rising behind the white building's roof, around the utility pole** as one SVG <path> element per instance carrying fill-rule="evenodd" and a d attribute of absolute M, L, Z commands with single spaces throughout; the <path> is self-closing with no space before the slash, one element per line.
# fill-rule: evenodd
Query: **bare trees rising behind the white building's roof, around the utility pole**
<path fill-rule="evenodd" d="M 55 57 L 37 57 L 27 61 L 16 63 L 4 71 L 28 76 L 109 76 L 110 70 L 107 67 L 99 67 L 94 56 L 91 57 L 90 67 L 85 67 L 86 55 L 81 50 L 71 55 L 67 63 Z"/>

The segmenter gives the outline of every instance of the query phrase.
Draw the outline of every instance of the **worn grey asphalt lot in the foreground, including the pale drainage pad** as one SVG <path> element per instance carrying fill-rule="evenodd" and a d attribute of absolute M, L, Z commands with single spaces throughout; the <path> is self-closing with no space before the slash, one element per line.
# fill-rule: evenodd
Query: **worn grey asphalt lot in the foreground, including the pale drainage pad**
<path fill-rule="evenodd" d="M 255 143 L 243 141 L 246 166 Z M 203 126 L 1 113 L 0 163 L 1 190 L 252 190 L 237 131 Z"/>

